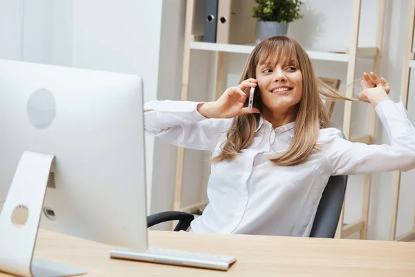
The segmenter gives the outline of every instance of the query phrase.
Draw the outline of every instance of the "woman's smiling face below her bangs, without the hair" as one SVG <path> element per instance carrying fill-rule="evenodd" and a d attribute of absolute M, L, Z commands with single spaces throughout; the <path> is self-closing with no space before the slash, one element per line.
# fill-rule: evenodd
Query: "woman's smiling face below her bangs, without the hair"
<path fill-rule="evenodd" d="M 302 72 L 295 60 L 278 64 L 264 62 L 256 69 L 259 95 L 271 114 L 295 111 L 302 97 Z"/>

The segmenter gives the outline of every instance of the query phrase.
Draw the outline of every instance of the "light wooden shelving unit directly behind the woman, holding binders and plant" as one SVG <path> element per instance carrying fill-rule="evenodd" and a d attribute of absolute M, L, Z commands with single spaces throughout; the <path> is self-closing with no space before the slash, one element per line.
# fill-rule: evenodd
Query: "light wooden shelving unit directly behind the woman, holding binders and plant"
<path fill-rule="evenodd" d="M 374 72 L 380 74 L 380 53 L 382 51 L 383 38 L 383 22 L 385 16 L 385 0 L 379 1 L 378 6 L 378 22 L 376 32 L 376 44 L 374 47 L 358 47 L 358 36 L 360 27 L 360 6 L 362 0 L 353 0 L 352 20 L 351 20 L 351 41 L 347 53 L 332 53 L 324 51 L 307 51 L 308 55 L 313 60 L 326 60 L 333 62 L 347 62 L 347 84 L 351 84 L 355 80 L 356 75 L 356 61 L 358 58 L 370 58 L 374 60 Z M 214 51 L 215 55 L 215 75 L 216 75 L 216 98 L 219 97 L 225 87 L 225 72 L 223 64 L 225 64 L 226 53 L 251 53 L 254 45 L 235 45 L 235 44 L 215 44 L 207 42 L 196 41 L 192 35 L 194 14 L 195 14 L 195 0 L 187 0 L 185 19 L 185 43 L 184 43 L 184 58 L 183 58 L 183 77 L 182 77 L 182 94 L 181 100 L 189 99 L 189 82 L 190 82 L 190 59 L 192 51 Z M 349 86 L 346 95 L 353 97 L 354 87 Z M 369 106 L 369 105 L 368 105 Z M 365 135 L 351 138 L 351 102 L 345 102 L 344 107 L 344 122 L 343 132 L 350 141 L 358 141 L 362 143 L 371 144 L 374 142 L 376 114 L 374 109 L 371 109 L 369 118 L 369 128 Z M 177 154 L 177 168 L 176 168 L 176 188 L 174 199 L 174 211 L 193 212 L 199 208 L 203 208 L 207 203 L 199 202 L 190 206 L 181 206 L 182 184 L 183 184 L 183 163 L 184 163 L 184 149 L 178 148 Z M 369 217 L 369 199 L 371 192 L 371 175 L 365 177 L 365 188 L 363 197 L 362 218 L 352 222 L 351 224 L 344 224 L 344 204 L 342 213 L 340 215 L 338 230 L 336 238 L 344 238 L 352 233 L 359 232 L 361 239 L 367 238 L 367 221 Z"/>

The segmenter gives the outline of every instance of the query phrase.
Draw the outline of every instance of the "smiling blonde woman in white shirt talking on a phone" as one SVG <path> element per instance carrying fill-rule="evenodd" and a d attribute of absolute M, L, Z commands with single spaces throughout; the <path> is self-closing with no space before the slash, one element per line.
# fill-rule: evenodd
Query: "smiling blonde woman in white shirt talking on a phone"
<path fill-rule="evenodd" d="M 343 139 L 321 96 L 353 99 L 318 80 L 306 51 L 288 36 L 258 44 L 240 84 L 214 102 L 147 102 L 147 132 L 212 152 L 209 204 L 191 231 L 309 236 L 331 175 L 414 168 L 415 132 L 405 108 L 389 99 L 385 79 L 364 78 L 358 98 L 376 109 L 390 145 Z M 250 114 L 251 87 L 258 94 Z"/>

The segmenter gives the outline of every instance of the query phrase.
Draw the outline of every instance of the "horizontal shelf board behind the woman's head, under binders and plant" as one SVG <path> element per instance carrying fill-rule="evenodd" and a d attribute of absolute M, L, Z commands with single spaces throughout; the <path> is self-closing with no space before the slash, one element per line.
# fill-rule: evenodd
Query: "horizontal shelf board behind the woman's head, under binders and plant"
<path fill-rule="evenodd" d="M 255 45 L 239 45 L 239 44 L 217 44 L 212 42 L 191 42 L 190 48 L 205 51 L 218 51 L 225 53 L 242 53 L 250 54 Z M 313 60 L 329 60 L 335 62 L 349 62 L 349 54 L 334 53 L 326 51 L 307 51 Z M 374 57 L 378 53 L 376 47 L 360 47 L 357 50 L 357 57 Z"/>

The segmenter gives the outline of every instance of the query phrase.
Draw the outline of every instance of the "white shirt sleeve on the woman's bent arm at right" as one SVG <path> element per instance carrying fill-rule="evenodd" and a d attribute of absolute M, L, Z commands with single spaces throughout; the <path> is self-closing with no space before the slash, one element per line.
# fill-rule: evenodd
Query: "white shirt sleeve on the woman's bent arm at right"
<path fill-rule="evenodd" d="M 331 128 L 323 148 L 333 169 L 332 175 L 363 175 L 415 168 L 415 129 L 407 118 L 402 100 L 380 102 L 376 114 L 387 132 L 389 145 L 353 143 L 342 138 L 340 130 Z"/>

